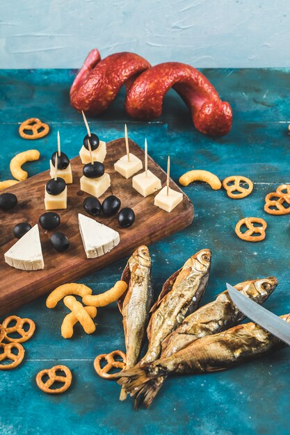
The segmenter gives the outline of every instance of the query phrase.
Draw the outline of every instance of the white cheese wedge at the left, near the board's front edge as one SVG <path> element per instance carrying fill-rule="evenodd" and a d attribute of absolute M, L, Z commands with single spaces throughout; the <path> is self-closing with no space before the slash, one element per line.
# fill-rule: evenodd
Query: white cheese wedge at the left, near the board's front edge
<path fill-rule="evenodd" d="M 8 265 L 21 270 L 39 270 L 45 267 L 38 224 L 34 225 L 5 254 Z"/>

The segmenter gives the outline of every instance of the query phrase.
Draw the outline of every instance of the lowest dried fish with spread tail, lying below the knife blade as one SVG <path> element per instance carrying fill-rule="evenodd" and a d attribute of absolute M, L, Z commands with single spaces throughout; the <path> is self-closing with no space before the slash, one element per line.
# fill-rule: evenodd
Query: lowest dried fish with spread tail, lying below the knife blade
<path fill-rule="evenodd" d="M 290 323 L 290 314 L 281 318 Z M 154 397 L 154 379 L 170 373 L 204 373 L 225 370 L 252 361 L 286 344 L 253 322 L 205 336 L 168 358 L 122 372 L 118 383 L 148 407 Z"/>

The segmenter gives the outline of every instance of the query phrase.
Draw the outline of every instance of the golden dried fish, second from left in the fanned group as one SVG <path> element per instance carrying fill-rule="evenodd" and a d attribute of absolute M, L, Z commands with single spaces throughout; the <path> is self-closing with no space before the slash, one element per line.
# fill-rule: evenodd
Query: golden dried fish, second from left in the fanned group
<path fill-rule="evenodd" d="M 183 268 L 166 281 L 151 310 L 147 328 L 149 345 L 141 364 L 159 358 L 162 341 L 198 307 L 209 281 L 210 267 L 211 251 L 202 249 L 188 258 Z"/>

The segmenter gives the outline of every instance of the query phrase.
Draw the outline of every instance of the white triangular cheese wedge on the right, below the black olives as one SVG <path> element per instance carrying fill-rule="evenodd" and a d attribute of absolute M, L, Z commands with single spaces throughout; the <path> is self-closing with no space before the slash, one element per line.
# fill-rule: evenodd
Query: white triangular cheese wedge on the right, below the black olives
<path fill-rule="evenodd" d="M 79 231 L 87 258 L 104 255 L 120 243 L 117 231 L 81 213 L 79 213 Z"/>

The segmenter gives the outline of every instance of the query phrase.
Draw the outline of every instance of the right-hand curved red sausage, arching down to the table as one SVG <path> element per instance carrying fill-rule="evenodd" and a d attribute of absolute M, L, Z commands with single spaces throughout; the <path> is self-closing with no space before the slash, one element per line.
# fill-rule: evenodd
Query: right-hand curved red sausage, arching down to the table
<path fill-rule="evenodd" d="M 160 63 L 140 74 L 127 92 L 125 110 L 131 117 L 152 120 L 161 115 L 163 98 L 173 88 L 182 97 L 196 129 L 223 136 L 232 126 L 232 108 L 201 72 L 178 62 Z"/>

